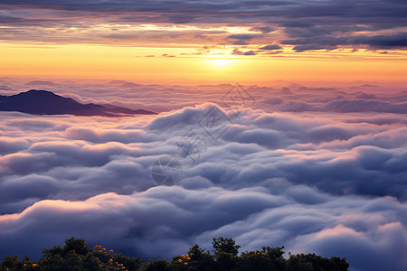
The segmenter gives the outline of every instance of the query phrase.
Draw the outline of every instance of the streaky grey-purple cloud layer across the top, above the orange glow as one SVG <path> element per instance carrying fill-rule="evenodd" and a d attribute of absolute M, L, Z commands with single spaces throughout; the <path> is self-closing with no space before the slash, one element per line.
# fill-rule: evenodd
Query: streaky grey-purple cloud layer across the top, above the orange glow
<path fill-rule="evenodd" d="M 405 50 L 406 13 L 407 5 L 400 0 L 2 1 L 0 36 L 5 42 L 139 46 L 170 38 L 184 45 L 257 49 L 271 41 L 297 52 Z"/>

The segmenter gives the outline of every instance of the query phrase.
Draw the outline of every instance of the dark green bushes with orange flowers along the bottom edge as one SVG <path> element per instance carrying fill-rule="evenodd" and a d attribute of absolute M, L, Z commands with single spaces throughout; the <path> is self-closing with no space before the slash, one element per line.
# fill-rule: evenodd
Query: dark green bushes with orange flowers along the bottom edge
<path fill-rule="evenodd" d="M 88 248 L 85 240 L 70 238 L 65 240 L 63 248 L 44 249 L 38 261 L 5 256 L 0 271 L 346 271 L 349 268 L 345 258 L 340 257 L 298 254 L 286 259 L 284 247 L 263 247 L 238 256 L 239 248 L 232 238 L 213 238 L 213 254 L 194 244 L 187 254 L 173 257 L 170 263 L 160 259 L 141 265 L 140 257 L 113 254 L 113 250 L 101 246 Z"/>

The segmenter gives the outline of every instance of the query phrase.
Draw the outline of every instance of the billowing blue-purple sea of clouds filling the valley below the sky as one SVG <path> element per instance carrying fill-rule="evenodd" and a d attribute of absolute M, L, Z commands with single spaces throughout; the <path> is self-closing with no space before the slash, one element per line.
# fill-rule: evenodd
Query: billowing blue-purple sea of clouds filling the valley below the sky
<path fill-rule="evenodd" d="M 232 97 L 227 84 L 0 84 L 0 95 L 47 89 L 160 112 L 1 112 L 0 255 L 39 257 L 74 236 L 130 256 L 171 258 L 224 236 L 241 251 L 285 246 L 346 257 L 352 270 L 407 268 L 401 87 L 245 86 L 251 107 L 237 109 L 222 103 Z M 213 116 L 220 123 L 211 126 Z M 192 138 L 199 145 L 185 153 Z M 176 185 L 152 178 L 164 155 L 182 164 Z"/>

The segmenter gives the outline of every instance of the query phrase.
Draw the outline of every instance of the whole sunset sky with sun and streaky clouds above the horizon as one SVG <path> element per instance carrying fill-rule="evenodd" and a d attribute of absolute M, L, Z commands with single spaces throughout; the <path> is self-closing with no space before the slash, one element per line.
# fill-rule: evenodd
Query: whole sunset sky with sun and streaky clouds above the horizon
<path fill-rule="evenodd" d="M 405 80 L 404 1 L 1 1 L 5 76 Z"/>

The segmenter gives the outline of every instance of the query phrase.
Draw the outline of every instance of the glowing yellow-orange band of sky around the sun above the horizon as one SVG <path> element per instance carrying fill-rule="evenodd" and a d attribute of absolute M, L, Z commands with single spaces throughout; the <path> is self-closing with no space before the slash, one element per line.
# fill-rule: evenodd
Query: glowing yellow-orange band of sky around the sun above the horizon
<path fill-rule="evenodd" d="M 95 44 L 0 43 L 5 77 L 66 79 L 188 79 L 261 83 L 270 80 L 405 81 L 402 52 L 392 58 L 373 51 L 289 52 L 276 56 L 184 55 L 185 48 Z M 191 50 L 192 51 L 192 50 Z M 154 57 L 153 57 L 154 55 Z"/>

